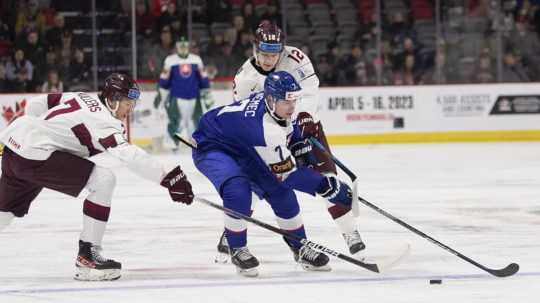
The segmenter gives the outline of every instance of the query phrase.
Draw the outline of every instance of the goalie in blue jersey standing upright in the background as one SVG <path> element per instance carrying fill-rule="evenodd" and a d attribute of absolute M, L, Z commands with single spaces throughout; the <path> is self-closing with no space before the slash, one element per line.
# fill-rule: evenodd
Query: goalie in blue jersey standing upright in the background
<path fill-rule="evenodd" d="M 167 56 L 159 79 L 160 102 L 164 102 L 169 118 L 167 132 L 178 146 L 175 133 L 195 130 L 194 117 L 197 100 L 202 112 L 212 106 L 210 82 L 203 71 L 201 58 L 189 52 L 189 42 L 181 38 L 176 43 L 176 54 Z"/>

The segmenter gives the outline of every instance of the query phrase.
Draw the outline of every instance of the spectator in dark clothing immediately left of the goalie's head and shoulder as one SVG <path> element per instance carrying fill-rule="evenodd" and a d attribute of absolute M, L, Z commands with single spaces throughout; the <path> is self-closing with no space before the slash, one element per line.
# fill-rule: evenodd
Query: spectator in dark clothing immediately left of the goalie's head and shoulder
<path fill-rule="evenodd" d="M 142 75 L 147 78 L 158 79 L 161 73 L 163 61 L 174 50 L 171 27 L 165 26 L 160 31 L 159 43 L 152 45 L 150 50 L 145 50 L 142 57 L 144 64 Z"/>

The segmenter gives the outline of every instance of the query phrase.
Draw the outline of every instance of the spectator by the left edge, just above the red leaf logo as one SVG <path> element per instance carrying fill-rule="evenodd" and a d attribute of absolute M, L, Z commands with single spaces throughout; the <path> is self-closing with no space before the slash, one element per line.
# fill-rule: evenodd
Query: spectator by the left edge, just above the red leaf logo
<path fill-rule="evenodd" d="M 13 57 L 6 65 L 6 75 L 14 92 L 27 92 L 31 87 L 34 66 L 24 57 L 24 50 L 15 49 Z"/>

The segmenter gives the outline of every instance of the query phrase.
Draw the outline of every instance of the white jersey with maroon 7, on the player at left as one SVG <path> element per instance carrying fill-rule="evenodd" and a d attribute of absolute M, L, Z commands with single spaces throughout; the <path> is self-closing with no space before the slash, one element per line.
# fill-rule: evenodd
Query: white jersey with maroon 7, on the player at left
<path fill-rule="evenodd" d="M 54 151 L 88 158 L 108 152 L 139 175 L 161 182 L 165 169 L 127 142 L 122 122 L 96 95 L 49 94 L 29 100 L 27 114 L 0 133 L 0 141 L 19 156 L 46 160 Z"/>

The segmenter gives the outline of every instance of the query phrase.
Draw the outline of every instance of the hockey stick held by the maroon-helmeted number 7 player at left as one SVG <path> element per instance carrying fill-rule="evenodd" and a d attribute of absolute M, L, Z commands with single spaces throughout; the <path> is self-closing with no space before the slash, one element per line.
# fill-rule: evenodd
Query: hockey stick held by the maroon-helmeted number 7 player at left
<path fill-rule="evenodd" d="M 255 218 L 246 216 L 246 215 L 244 215 L 242 213 L 239 213 L 237 211 L 234 211 L 232 209 L 223 207 L 223 206 L 221 206 L 219 204 L 216 204 L 216 203 L 214 203 L 212 201 L 209 201 L 207 199 L 195 196 L 194 200 L 196 200 L 196 201 L 198 201 L 200 203 L 206 204 L 206 205 L 208 205 L 210 207 L 219 209 L 219 210 L 221 210 L 221 211 L 223 211 L 223 212 L 225 212 L 225 213 L 227 213 L 227 214 L 229 214 L 231 216 L 234 216 L 234 217 L 240 218 L 242 220 L 245 220 L 247 222 L 253 223 L 253 224 L 255 224 L 257 226 L 260 226 L 260 227 L 262 227 L 262 228 L 264 228 L 266 230 L 273 231 L 273 232 L 275 232 L 277 234 L 280 234 L 280 235 L 282 235 L 282 236 L 284 236 L 284 237 L 286 237 L 286 238 L 288 238 L 290 240 L 298 241 L 298 242 L 302 243 L 303 245 L 307 245 L 307 246 L 311 247 L 312 249 L 317 250 L 319 252 L 329 254 L 329 255 L 334 256 L 334 257 L 336 257 L 338 259 L 341 259 L 341 260 L 347 261 L 349 263 L 355 264 L 357 266 L 360 266 L 360 267 L 365 268 L 365 269 L 367 269 L 369 271 L 372 271 L 372 272 L 376 272 L 376 273 L 381 272 L 381 269 L 379 268 L 379 266 L 377 264 L 362 262 L 362 261 L 360 261 L 358 259 L 349 257 L 349 256 L 344 255 L 342 253 L 339 253 L 339 252 L 337 252 L 337 251 L 335 251 L 333 249 L 330 249 L 330 248 L 328 248 L 328 247 L 326 247 L 324 245 L 317 244 L 317 243 L 312 242 L 312 241 L 310 241 L 308 239 L 301 238 L 301 237 L 299 237 L 299 236 L 297 236 L 295 234 L 291 234 L 291 233 L 289 233 L 289 232 L 287 232 L 285 230 L 282 230 L 282 229 L 277 228 L 275 226 L 272 226 L 270 224 L 264 223 L 262 221 L 259 221 L 259 220 L 255 219 Z"/>

